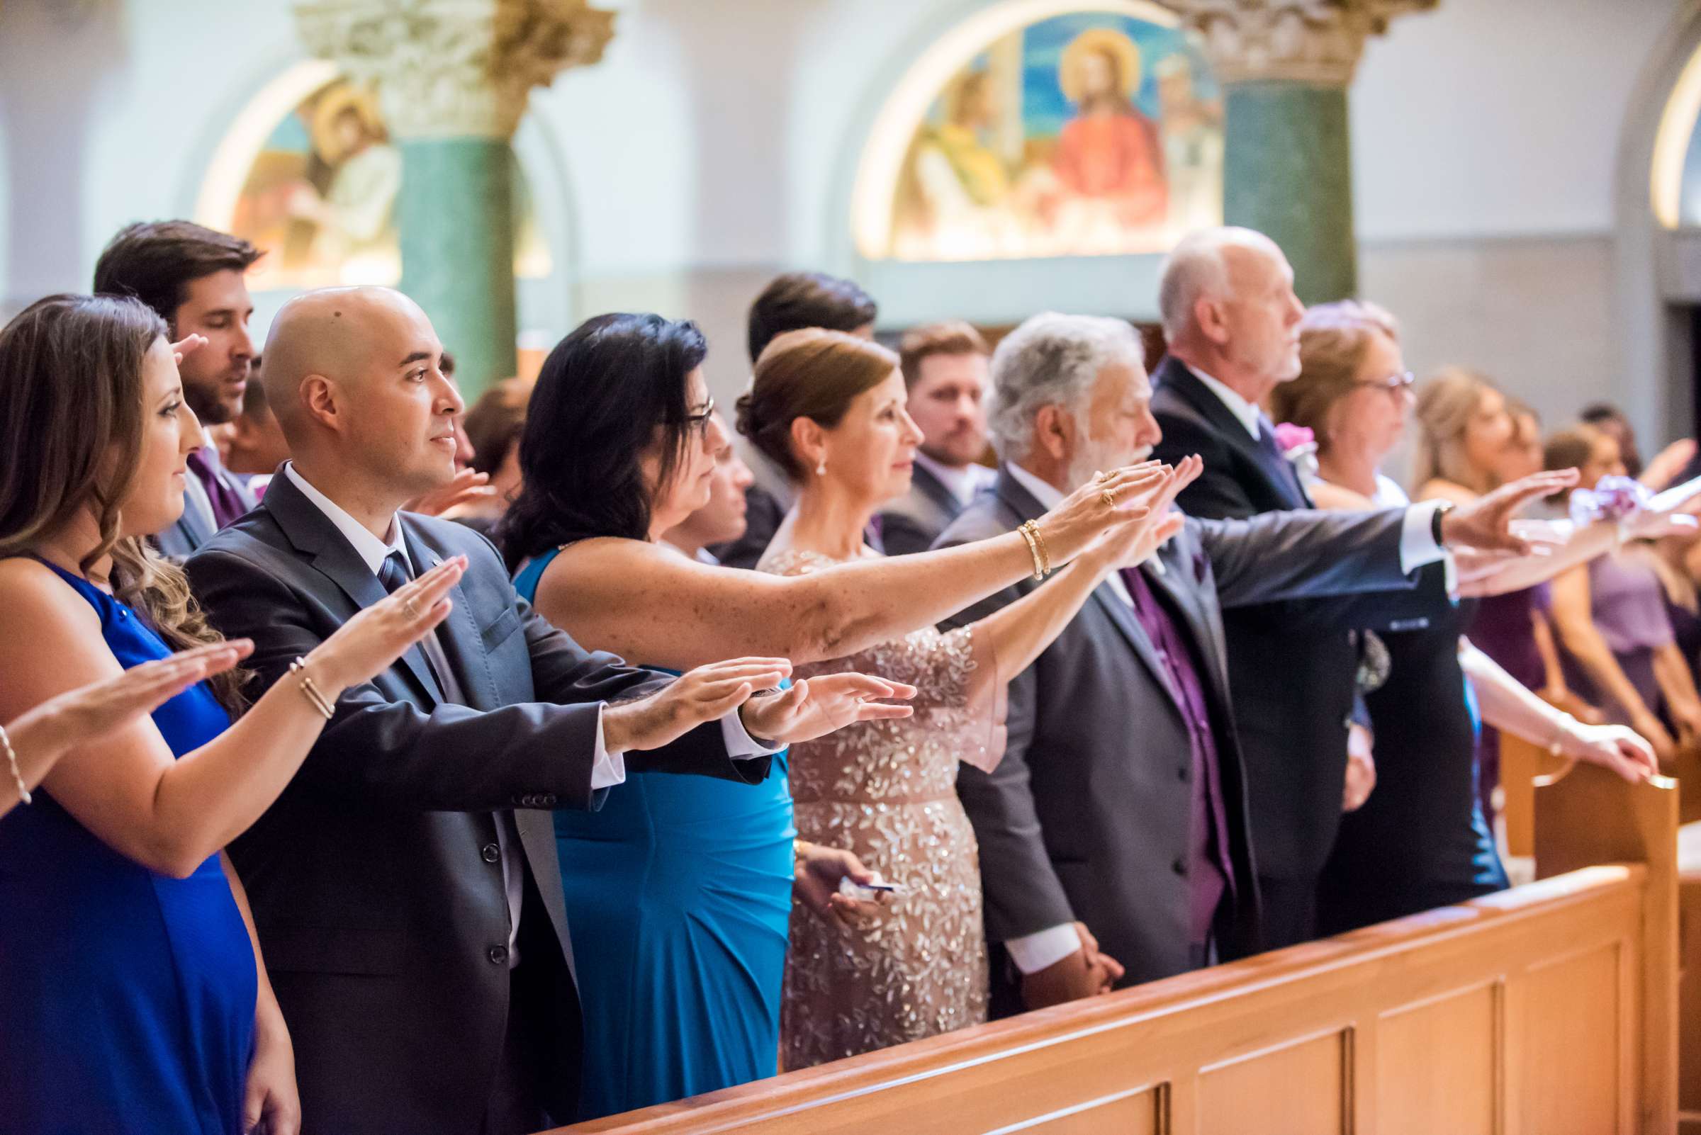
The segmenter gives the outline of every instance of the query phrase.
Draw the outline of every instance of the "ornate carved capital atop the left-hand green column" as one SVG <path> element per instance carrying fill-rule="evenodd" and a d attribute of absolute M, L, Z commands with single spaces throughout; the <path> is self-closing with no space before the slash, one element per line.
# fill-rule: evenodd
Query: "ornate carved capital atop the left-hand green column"
<path fill-rule="evenodd" d="M 514 136 L 532 87 L 595 63 L 614 12 L 587 0 L 296 0 L 313 54 L 378 92 L 396 138 Z"/>

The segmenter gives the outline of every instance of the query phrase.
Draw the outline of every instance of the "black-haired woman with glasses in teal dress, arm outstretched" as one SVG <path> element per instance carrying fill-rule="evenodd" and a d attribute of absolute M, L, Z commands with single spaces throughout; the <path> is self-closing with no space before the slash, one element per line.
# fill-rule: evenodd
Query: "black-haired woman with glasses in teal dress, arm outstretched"
<path fill-rule="evenodd" d="M 674 551 L 660 534 L 704 505 L 728 445 L 706 353 L 696 325 L 609 314 L 561 340 L 538 376 L 502 539 L 524 566 L 521 593 L 580 644 L 672 669 L 728 649 L 818 663 L 932 627 L 1034 571 L 1014 532 L 798 578 Z M 1121 549 L 1165 486 L 1157 466 L 1114 471 L 1041 518 L 1033 547 L 1051 566 L 1106 539 Z M 1061 601 L 1067 590 L 1043 591 Z M 1050 608 L 1012 612 L 995 635 L 1000 675 L 1061 625 Z M 856 856 L 794 843 L 782 761 L 755 788 L 699 782 L 634 775 L 600 812 L 556 814 L 585 1033 L 597 1038 L 582 1118 L 772 1076 L 793 890 L 823 918 L 868 918 L 869 904 L 835 894 L 847 875 L 873 882 Z"/>

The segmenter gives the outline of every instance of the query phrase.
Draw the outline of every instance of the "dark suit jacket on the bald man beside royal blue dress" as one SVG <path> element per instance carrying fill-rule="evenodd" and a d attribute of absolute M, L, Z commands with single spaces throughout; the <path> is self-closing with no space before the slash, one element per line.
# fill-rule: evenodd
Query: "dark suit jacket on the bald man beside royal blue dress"
<path fill-rule="evenodd" d="M 437 634 L 466 705 L 442 702 L 418 647 L 347 690 L 301 771 L 230 848 L 296 1048 L 303 1123 L 337 1135 L 480 1130 L 509 1013 L 509 909 L 495 812 L 515 809 L 529 907 L 522 968 L 551 1001 L 546 1101 L 577 1106 L 578 1008 L 551 807 L 595 807 L 597 703 L 667 676 L 587 652 L 531 612 L 502 557 L 463 525 L 400 517 L 418 571 L 464 554 Z M 286 477 L 191 557 L 213 624 L 250 637 L 259 695 L 384 596 L 332 522 Z M 760 780 L 716 722 L 638 770 Z M 543 911 L 539 911 L 539 906 Z M 546 918 L 544 918 L 546 912 Z M 595 1043 L 592 1040 L 592 1043 Z"/>

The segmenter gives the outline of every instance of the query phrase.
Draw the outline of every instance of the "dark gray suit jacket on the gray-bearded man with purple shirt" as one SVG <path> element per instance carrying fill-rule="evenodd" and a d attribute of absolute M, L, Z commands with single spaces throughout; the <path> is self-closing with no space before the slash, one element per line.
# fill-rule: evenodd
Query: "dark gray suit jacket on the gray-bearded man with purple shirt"
<path fill-rule="evenodd" d="M 1000 472 L 995 489 L 981 493 L 937 547 L 1010 532 L 1043 511 Z M 1259 945 L 1257 812 L 1249 816 L 1235 732 L 1240 690 L 1225 663 L 1225 608 L 1408 588 L 1400 574 L 1400 511 L 1189 518 L 1158 559 L 1162 574 L 1141 571 L 1170 600 L 1203 666 L 1238 899 L 1220 909 L 1216 933 L 1223 955 L 1240 957 Z M 975 622 L 1038 586 L 1044 584 L 1024 579 L 951 625 Z M 1187 970 L 1187 726 L 1157 649 L 1111 584 L 1101 584 L 1034 664 L 1010 680 L 1007 724 L 1000 765 L 992 773 L 968 766 L 958 773 L 958 795 L 980 843 L 988 941 L 1078 919 L 1128 968 L 1124 985 Z"/>

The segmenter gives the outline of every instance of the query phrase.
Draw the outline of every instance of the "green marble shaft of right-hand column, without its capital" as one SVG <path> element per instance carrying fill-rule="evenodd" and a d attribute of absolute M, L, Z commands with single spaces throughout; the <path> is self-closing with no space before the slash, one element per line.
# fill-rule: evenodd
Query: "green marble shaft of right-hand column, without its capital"
<path fill-rule="evenodd" d="M 1356 294 L 1345 87 L 1230 83 L 1223 131 L 1223 221 L 1281 245 L 1306 304 Z"/>

